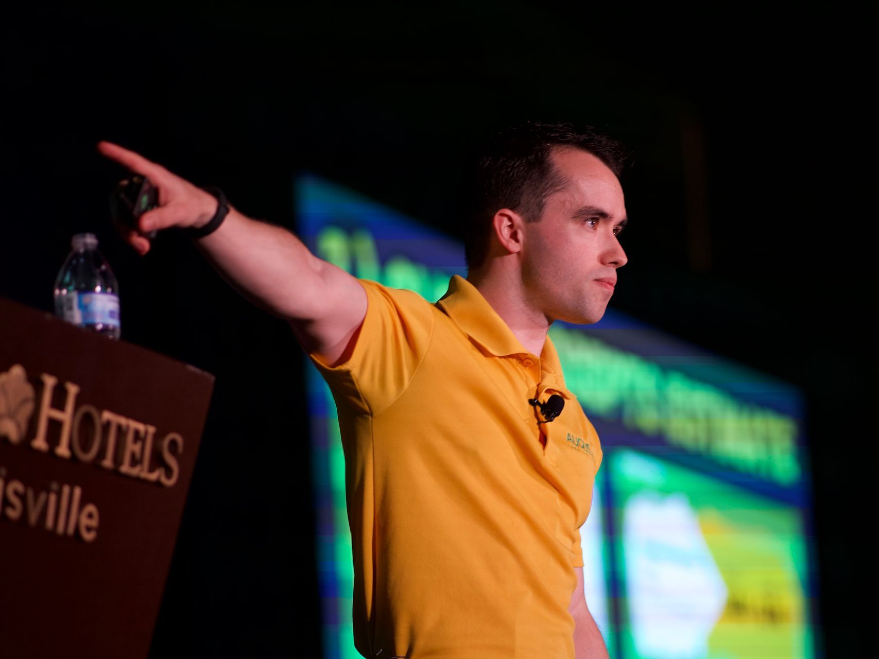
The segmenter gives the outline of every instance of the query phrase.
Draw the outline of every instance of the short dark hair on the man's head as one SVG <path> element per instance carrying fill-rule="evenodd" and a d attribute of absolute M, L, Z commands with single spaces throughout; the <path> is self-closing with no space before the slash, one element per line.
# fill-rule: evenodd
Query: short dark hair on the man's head
<path fill-rule="evenodd" d="M 490 221 L 499 209 L 516 211 L 529 222 L 541 219 L 548 196 L 566 183 L 550 159 L 559 147 L 591 153 L 621 175 L 626 157 L 621 143 L 592 126 L 528 121 L 501 131 L 474 159 L 467 184 L 464 257 L 470 268 L 482 265 L 488 254 Z"/>

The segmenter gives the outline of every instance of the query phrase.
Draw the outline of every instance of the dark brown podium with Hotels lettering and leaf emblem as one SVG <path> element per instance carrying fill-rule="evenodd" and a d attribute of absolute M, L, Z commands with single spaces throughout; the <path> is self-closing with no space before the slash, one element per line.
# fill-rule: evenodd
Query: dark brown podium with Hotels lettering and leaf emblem
<path fill-rule="evenodd" d="M 148 654 L 213 388 L 0 299 L 0 655 Z"/>

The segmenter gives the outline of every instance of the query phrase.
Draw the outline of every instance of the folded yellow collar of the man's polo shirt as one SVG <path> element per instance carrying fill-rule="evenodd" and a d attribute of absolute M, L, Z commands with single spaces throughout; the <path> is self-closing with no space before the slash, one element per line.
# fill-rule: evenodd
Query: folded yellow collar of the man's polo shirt
<path fill-rule="evenodd" d="M 484 352 L 495 357 L 531 354 L 479 289 L 460 275 L 449 280 L 448 291 L 437 301 L 437 306 Z M 541 351 L 541 366 L 544 373 L 558 375 L 561 379 L 562 366 L 549 335 Z M 559 384 L 563 387 L 562 382 Z"/>

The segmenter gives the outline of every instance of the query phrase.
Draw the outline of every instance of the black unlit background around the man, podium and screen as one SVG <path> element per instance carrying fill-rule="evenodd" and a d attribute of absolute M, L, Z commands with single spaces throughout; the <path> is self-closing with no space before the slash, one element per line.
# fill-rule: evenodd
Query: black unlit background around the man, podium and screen
<path fill-rule="evenodd" d="M 318 656 L 301 354 L 193 246 L 113 233 L 117 141 L 293 227 L 310 170 L 462 235 L 462 159 L 512 121 L 607 127 L 631 154 L 614 307 L 803 389 L 819 635 L 861 653 L 871 568 L 866 122 L 855 28 L 789 12 L 556 2 L 113 13 L 3 21 L 0 295 L 51 310 L 70 236 L 120 281 L 123 338 L 217 377 L 152 654 Z M 291 283 L 291 286 L 294 286 Z M 0 319 L 2 322 L 2 319 Z M 869 337 L 872 338 L 872 337 Z M 873 433 L 871 433 L 873 434 Z"/>

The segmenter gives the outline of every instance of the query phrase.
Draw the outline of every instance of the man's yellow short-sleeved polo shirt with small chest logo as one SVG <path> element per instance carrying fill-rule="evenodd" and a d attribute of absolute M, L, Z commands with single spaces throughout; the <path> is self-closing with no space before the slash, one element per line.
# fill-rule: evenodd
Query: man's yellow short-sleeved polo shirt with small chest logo
<path fill-rule="evenodd" d="M 578 530 L 601 447 L 552 341 L 530 354 L 457 275 L 436 304 L 360 283 L 351 357 L 329 368 L 310 355 L 345 451 L 355 646 L 379 659 L 573 659 Z M 553 394 L 564 409 L 538 424 L 528 399 Z"/>

